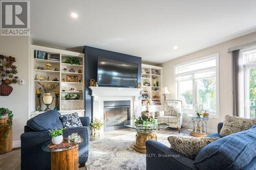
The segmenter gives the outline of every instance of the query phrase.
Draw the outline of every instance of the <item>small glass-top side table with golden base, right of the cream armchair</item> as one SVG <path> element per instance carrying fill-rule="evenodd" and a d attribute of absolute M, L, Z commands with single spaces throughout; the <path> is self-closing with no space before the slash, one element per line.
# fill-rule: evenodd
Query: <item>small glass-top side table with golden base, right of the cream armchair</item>
<path fill-rule="evenodd" d="M 195 137 L 208 136 L 207 121 L 211 118 L 211 116 L 197 116 L 194 114 L 188 114 L 187 116 L 190 117 L 193 122 L 193 131 L 190 132 L 191 136 L 195 136 Z"/>

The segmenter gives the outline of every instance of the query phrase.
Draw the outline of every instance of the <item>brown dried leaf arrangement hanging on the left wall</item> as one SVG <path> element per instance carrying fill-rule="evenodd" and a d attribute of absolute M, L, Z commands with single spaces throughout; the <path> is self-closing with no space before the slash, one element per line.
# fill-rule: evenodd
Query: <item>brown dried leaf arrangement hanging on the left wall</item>
<path fill-rule="evenodd" d="M 15 61 L 12 56 L 0 55 L 0 79 L 2 83 L 10 85 L 18 82 L 18 77 L 15 76 L 18 73 L 17 67 L 13 65 Z"/>

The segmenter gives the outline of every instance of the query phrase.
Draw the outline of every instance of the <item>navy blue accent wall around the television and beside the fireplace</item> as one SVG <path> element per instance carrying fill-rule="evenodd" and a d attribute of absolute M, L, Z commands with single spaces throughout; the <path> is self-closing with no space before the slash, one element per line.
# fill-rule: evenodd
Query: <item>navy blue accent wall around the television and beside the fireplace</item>
<path fill-rule="evenodd" d="M 86 106 L 86 116 L 93 117 L 93 103 L 91 96 L 90 79 L 95 79 L 97 81 L 97 66 L 98 66 L 98 56 L 104 57 L 112 60 L 119 60 L 123 62 L 130 62 L 138 64 L 138 82 L 141 82 L 141 57 L 111 52 L 107 50 L 102 50 L 99 48 L 84 46 L 83 53 L 85 54 L 85 106 Z"/>

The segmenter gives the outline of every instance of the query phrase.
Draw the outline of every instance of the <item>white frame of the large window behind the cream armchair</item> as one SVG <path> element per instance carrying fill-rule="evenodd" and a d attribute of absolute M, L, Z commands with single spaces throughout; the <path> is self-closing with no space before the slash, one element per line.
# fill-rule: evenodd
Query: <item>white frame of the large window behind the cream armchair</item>
<path fill-rule="evenodd" d="M 196 60 L 191 60 L 188 62 L 174 65 L 176 99 L 178 99 L 178 100 L 180 99 L 179 82 L 185 81 L 185 80 L 193 80 L 193 109 L 184 109 L 183 110 L 184 114 L 195 114 L 195 104 L 197 103 L 197 89 L 198 89 L 198 80 L 199 80 L 198 78 L 195 78 L 195 72 L 198 73 L 198 72 L 214 70 L 215 76 L 208 76 L 208 77 L 204 77 L 204 78 L 210 78 L 210 77 L 216 78 L 216 104 L 217 104 L 216 112 L 209 112 L 209 115 L 212 116 L 213 118 L 219 118 L 219 57 L 220 57 L 220 53 L 215 53 L 215 54 L 212 54 L 209 56 L 198 58 Z M 176 75 L 176 68 L 181 65 L 192 64 L 192 63 L 196 63 L 196 62 L 200 62 L 200 61 L 204 62 L 204 61 L 210 60 L 212 58 L 216 59 L 216 66 L 214 66 L 214 67 L 208 67 L 208 68 L 198 69 L 198 70 L 194 70 L 194 71 L 188 71 L 188 72 L 184 72 L 184 73 Z M 177 80 L 177 77 L 186 76 L 186 75 L 193 75 L 193 76 L 186 78 L 184 80 Z"/>

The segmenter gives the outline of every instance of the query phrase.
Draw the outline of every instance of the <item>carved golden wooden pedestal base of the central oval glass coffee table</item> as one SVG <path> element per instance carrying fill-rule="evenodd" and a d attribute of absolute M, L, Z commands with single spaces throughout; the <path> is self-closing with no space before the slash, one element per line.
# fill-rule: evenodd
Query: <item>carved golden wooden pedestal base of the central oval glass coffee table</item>
<path fill-rule="evenodd" d="M 157 140 L 156 132 L 152 133 L 141 133 L 137 132 L 136 140 L 132 144 L 132 147 L 135 151 L 145 154 L 146 153 L 146 141 L 154 139 Z"/>

